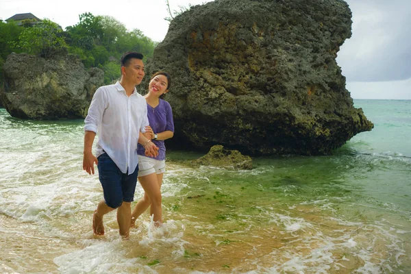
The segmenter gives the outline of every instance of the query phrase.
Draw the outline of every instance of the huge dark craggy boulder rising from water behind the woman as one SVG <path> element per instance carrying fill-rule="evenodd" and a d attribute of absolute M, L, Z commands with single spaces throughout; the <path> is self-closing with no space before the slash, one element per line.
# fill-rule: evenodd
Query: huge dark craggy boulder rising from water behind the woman
<path fill-rule="evenodd" d="M 341 0 L 216 0 L 171 22 L 146 71 L 172 76 L 173 142 L 327 154 L 373 128 L 336 64 L 350 36 Z"/>

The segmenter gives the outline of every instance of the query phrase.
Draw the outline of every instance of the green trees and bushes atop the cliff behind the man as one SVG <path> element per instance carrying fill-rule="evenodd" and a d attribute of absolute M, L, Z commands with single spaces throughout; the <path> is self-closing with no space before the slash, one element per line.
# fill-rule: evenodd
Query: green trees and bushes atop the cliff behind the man
<path fill-rule="evenodd" d="M 131 32 L 111 16 L 79 15 L 79 23 L 66 30 L 52 21 L 43 20 L 33 27 L 20 27 L 0 21 L 0 84 L 3 63 L 10 53 L 29 53 L 42 57 L 68 51 L 79 56 L 86 69 L 96 66 L 105 73 L 108 84 L 120 77 L 119 60 L 125 51 L 153 55 L 156 42 L 139 29 Z"/>

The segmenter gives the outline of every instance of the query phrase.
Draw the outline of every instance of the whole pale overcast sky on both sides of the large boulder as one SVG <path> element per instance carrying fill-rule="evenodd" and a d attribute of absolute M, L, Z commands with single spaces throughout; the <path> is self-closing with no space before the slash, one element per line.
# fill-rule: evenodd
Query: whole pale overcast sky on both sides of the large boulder
<path fill-rule="evenodd" d="M 169 0 L 171 10 L 207 0 Z M 411 0 L 346 0 L 353 13 L 353 35 L 338 53 L 354 99 L 411 99 Z M 165 0 L 0 0 L 0 18 L 32 12 L 63 28 L 79 14 L 110 15 L 132 30 L 161 41 L 169 16 Z"/>

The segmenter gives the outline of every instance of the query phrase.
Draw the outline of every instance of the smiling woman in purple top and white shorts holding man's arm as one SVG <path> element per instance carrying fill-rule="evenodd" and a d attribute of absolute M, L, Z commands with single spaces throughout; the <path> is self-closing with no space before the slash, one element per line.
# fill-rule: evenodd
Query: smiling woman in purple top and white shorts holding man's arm
<path fill-rule="evenodd" d="M 145 95 L 150 124 L 150 127 L 146 127 L 146 132 L 151 136 L 151 141 L 158 147 L 158 156 L 155 158 L 145 156 L 144 147 L 138 145 L 138 181 L 145 190 L 145 195 L 138 201 L 132 212 L 132 227 L 135 226 L 138 216 L 145 212 L 150 205 L 150 215 L 154 215 L 155 225 L 162 224 L 160 188 L 163 173 L 166 170 L 164 140 L 173 137 L 174 122 L 171 105 L 161 98 L 169 92 L 170 86 L 170 75 L 159 71 L 151 77 L 149 92 Z"/>

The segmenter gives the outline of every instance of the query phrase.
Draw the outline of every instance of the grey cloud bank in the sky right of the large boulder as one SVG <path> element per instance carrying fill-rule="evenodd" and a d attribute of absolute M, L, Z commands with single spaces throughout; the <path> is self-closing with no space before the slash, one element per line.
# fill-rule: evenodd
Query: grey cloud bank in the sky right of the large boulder
<path fill-rule="evenodd" d="M 353 35 L 337 62 L 348 82 L 395 81 L 411 77 L 411 2 L 347 0 Z"/>

